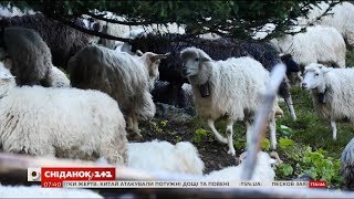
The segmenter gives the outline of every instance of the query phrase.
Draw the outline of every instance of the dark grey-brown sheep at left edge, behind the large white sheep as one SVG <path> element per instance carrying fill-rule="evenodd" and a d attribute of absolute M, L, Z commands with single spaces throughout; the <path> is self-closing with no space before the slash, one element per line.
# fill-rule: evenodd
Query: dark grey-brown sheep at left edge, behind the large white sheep
<path fill-rule="evenodd" d="M 11 73 L 18 85 L 43 84 L 52 66 L 51 52 L 33 30 L 10 27 L 2 31 L 3 53 L 11 60 Z"/>

